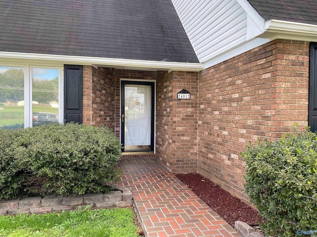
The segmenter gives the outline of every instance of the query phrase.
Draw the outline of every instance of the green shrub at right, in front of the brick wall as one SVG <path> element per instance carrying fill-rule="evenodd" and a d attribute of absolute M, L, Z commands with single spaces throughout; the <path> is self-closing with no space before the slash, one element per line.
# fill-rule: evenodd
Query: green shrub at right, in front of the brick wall
<path fill-rule="evenodd" d="M 317 135 L 282 136 L 250 143 L 242 156 L 247 165 L 245 191 L 264 218 L 268 235 L 297 236 L 317 230 Z"/>

